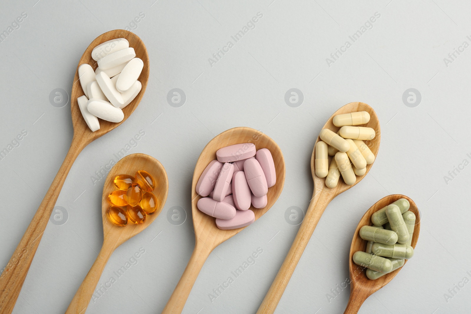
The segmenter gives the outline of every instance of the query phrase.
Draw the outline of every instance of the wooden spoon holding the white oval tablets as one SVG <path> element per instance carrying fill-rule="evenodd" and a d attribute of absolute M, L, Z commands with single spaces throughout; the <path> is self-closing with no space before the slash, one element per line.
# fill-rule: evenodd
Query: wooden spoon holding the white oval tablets
<path fill-rule="evenodd" d="M 116 38 L 126 38 L 129 41 L 130 47 L 134 48 L 136 51 L 136 56 L 141 58 L 144 62 L 144 69 L 142 70 L 138 79 L 142 83 L 142 89 L 138 96 L 136 96 L 136 98 L 134 98 L 134 100 L 123 109 L 123 121 L 119 123 L 113 123 L 100 119 L 100 129 L 92 132 L 83 120 L 79 105 L 77 104 L 77 98 L 84 95 L 79 82 L 78 67 L 81 64 L 88 63 L 93 67 L 93 69 L 96 69 L 97 62 L 91 58 L 92 49 L 107 40 Z M 23 238 L 16 247 L 16 250 L 13 253 L 13 256 L 10 258 L 7 267 L 5 267 L 5 270 L 1 274 L 0 313 L 11 313 L 11 311 L 13 311 L 16 299 L 18 298 L 21 287 L 23 286 L 24 279 L 26 278 L 26 274 L 28 273 L 29 267 L 31 265 L 32 258 L 34 257 L 34 253 L 36 253 L 36 249 L 38 248 L 39 242 L 41 241 L 42 233 L 44 233 L 44 230 L 46 229 L 52 209 L 56 204 L 57 197 L 59 196 L 62 185 L 64 185 L 65 178 L 67 177 L 73 162 L 85 146 L 96 140 L 98 137 L 101 137 L 102 135 L 116 128 L 130 116 L 130 114 L 134 111 L 134 109 L 136 109 L 139 102 L 141 101 L 144 91 L 146 90 L 148 80 L 149 56 L 147 55 L 147 49 L 142 40 L 140 40 L 140 38 L 132 32 L 125 30 L 114 30 L 106 32 L 93 40 L 83 53 L 77 66 L 77 71 L 75 72 L 72 85 L 72 94 L 70 97 L 70 109 L 72 112 L 73 124 L 72 144 L 70 145 L 69 151 L 65 156 L 65 160 L 59 168 L 54 181 L 52 181 L 48 192 L 41 202 L 41 205 L 39 206 L 36 214 L 31 220 L 31 223 L 26 229 Z"/>

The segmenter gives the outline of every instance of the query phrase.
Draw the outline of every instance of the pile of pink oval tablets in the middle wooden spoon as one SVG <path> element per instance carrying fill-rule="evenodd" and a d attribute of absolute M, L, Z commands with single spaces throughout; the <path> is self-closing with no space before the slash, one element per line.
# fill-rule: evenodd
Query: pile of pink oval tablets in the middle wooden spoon
<path fill-rule="evenodd" d="M 196 184 L 198 209 L 216 218 L 219 229 L 237 229 L 255 221 L 250 208 L 267 206 L 268 188 L 276 183 L 273 157 L 252 143 L 220 148 Z"/>

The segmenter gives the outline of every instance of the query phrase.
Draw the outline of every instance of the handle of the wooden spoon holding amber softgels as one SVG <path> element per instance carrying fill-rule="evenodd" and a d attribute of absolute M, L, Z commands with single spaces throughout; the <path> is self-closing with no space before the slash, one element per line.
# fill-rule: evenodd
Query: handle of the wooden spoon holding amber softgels
<path fill-rule="evenodd" d="M 79 289 L 75 292 L 75 296 L 73 296 L 65 314 L 85 313 L 85 309 L 88 307 L 90 299 L 93 296 L 93 292 L 95 292 L 95 288 L 100 280 L 101 273 L 103 273 L 103 269 L 105 269 L 106 263 L 114 249 L 114 246 L 107 244 L 107 242 L 103 242 L 103 246 L 98 253 L 97 259 L 91 266 Z M 106 290 L 106 287 L 104 289 Z"/>

